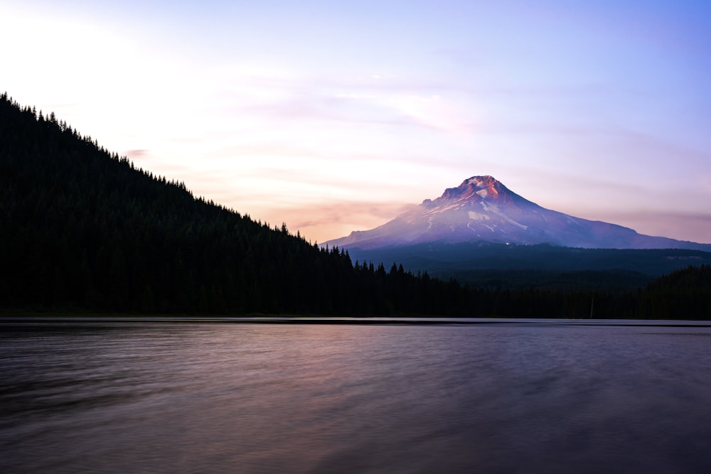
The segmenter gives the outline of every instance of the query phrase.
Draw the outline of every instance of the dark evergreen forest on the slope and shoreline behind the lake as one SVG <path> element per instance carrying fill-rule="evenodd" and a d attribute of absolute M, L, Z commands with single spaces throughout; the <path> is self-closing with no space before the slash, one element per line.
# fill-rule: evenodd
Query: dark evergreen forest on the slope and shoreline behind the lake
<path fill-rule="evenodd" d="M 711 318 L 711 266 L 634 291 L 469 286 L 352 262 L 0 96 L 0 310 Z"/>

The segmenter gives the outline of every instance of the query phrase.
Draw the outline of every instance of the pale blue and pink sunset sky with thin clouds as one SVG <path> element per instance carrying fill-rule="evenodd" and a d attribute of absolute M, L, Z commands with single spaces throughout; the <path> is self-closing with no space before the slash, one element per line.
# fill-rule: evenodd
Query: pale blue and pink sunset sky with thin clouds
<path fill-rule="evenodd" d="M 0 0 L 0 92 L 311 242 L 471 176 L 711 243 L 710 1 Z"/>

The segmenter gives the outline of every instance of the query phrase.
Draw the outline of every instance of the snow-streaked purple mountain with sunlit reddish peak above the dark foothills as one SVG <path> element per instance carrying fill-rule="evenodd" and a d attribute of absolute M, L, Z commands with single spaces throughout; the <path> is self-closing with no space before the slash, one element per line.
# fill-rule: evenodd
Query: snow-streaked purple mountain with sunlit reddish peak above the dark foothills
<path fill-rule="evenodd" d="M 351 232 L 329 246 L 377 249 L 427 242 L 552 244 L 598 249 L 699 249 L 711 245 L 641 235 L 628 227 L 542 208 L 492 176 L 472 176 L 439 198 L 373 230 Z"/>

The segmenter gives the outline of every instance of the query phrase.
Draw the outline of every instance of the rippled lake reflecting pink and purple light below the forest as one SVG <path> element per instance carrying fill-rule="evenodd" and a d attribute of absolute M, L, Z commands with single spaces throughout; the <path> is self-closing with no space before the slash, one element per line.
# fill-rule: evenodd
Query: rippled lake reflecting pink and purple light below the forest
<path fill-rule="evenodd" d="M 0 320 L 0 471 L 711 472 L 707 323 L 276 321 Z"/>

